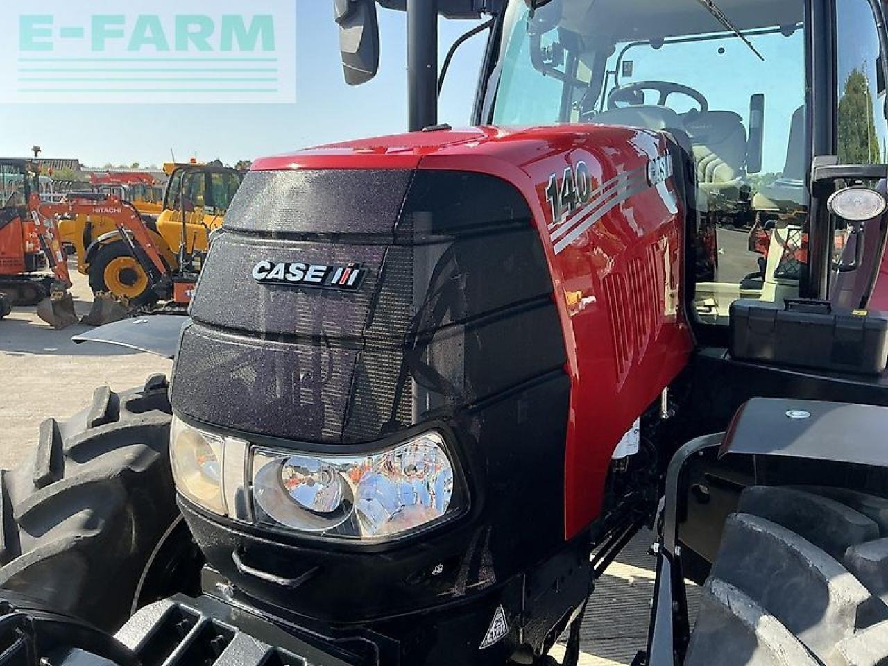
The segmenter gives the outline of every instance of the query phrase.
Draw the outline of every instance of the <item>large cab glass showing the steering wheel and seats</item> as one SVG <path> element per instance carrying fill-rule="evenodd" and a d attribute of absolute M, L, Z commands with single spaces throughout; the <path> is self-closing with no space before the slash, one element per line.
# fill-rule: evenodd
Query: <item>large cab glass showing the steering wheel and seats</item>
<path fill-rule="evenodd" d="M 802 0 L 717 0 L 729 25 L 699 0 L 530 4 L 508 5 L 489 120 L 670 131 L 696 165 L 698 313 L 716 320 L 738 297 L 797 296 L 808 204 Z"/>

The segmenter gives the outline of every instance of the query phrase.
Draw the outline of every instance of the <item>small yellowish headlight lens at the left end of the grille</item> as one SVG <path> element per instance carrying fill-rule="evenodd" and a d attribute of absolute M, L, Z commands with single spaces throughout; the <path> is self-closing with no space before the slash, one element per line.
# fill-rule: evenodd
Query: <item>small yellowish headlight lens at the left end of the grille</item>
<path fill-rule="evenodd" d="M 192 502 L 225 515 L 222 495 L 224 440 L 174 418 L 170 426 L 170 461 L 176 488 Z"/>

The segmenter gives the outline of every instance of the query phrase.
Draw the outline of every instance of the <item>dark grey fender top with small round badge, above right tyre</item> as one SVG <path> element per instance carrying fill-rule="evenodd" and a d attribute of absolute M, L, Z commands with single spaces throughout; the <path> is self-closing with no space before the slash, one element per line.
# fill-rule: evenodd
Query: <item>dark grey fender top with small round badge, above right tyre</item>
<path fill-rule="evenodd" d="M 718 457 L 783 456 L 888 467 L 886 429 L 885 407 L 753 398 L 733 417 Z"/>

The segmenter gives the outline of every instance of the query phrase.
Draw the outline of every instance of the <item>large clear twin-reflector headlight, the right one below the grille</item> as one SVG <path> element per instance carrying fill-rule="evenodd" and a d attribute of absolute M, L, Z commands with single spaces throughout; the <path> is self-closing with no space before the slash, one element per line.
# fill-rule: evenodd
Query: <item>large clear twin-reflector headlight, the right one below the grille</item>
<path fill-rule="evenodd" d="M 445 519 L 459 504 L 438 432 L 368 456 L 257 448 L 252 470 L 256 517 L 270 527 L 377 540 Z"/>

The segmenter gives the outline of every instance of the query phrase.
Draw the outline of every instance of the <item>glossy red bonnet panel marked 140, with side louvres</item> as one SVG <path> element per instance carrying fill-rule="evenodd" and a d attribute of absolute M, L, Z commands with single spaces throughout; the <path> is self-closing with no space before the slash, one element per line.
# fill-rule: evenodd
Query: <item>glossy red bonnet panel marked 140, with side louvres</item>
<path fill-rule="evenodd" d="M 253 169 L 465 170 L 519 188 L 543 241 L 572 380 L 564 488 L 570 538 L 599 516 L 614 448 L 693 349 L 679 305 L 683 204 L 665 155 L 651 131 L 481 127 L 318 147 L 258 160 Z M 558 220 L 553 179 L 575 203 Z"/>

